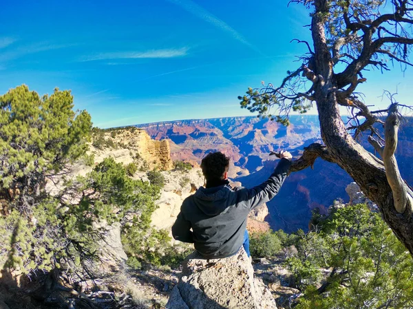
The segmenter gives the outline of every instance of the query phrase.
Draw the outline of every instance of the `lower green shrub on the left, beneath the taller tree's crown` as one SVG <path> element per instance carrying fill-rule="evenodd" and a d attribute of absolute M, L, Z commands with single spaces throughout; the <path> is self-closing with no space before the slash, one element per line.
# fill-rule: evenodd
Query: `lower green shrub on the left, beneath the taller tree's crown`
<path fill-rule="evenodd" d="M 100 222 L 120 224 L 126 245 L 134 236 L 133 241 L 141 243 L 139 249 L 145 247 L 158 187 L 131 179 L 112 158 L 66 185 L 60 195 L 32 207 L 30 216 L 13 209 L 0 218 L 0 245 L 8 252 L 8 268 L 29 273 L 56 266 L 76 268 L 85 260 L 93 261 L 107 229 Z M 67 194 L 81 194 L 81 199 L 67 203 Z"/>

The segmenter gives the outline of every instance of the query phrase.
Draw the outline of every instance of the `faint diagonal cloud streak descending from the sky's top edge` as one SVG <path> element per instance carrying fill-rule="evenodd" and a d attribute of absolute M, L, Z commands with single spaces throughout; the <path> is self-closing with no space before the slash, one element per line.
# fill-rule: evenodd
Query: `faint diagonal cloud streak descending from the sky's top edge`
<path fill-rule="evenodd" d="M 255 52 L 258 52 L 262 54 L 260 49 L 249 43 L 246 38 L 240 34 L 240 32 L 237 32 L 233 27 L 219 19 L 217 16 L 213 15 L 211 12 L 205 10 L 202 8 L 202 6 L 198 5 L 197 3 L 194 3 L 191 0 L 167 0 L 173 4 L 176 4 L 186 10 L 187 12 L 199 17 L 203 21 L 206 21 L 207 23 L 211 23 L 211 25 L 214 25 L 215 27 L 218 27 L 220 30 L 226 32 L 235 40 L 240 41 L 242 44 L 250 47 L 253 49 Z"/>

